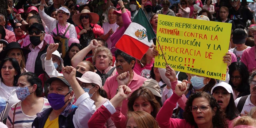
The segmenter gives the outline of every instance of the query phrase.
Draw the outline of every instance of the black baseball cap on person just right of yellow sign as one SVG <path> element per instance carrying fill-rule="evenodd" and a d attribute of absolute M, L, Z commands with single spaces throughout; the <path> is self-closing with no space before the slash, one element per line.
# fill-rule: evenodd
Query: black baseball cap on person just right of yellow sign
<path fill-rule="evenodd" d="M 241 28 L 237 28 L 233 31 L 233 43 L 234 44 L 244 44 L 246 41 L 247 34 Z"/>

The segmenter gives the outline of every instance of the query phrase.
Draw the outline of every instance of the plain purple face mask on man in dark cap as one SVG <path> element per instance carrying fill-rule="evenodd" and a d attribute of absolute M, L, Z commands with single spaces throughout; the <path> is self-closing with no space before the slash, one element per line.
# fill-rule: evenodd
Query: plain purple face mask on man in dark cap
<path fill-rule="evenodd" d="M 69 93 L 70 92 L 68 92 L 68 94 Z M 67 96 L 68 94 L 66 94 L 65 96 Z M 59 110 L 60 108 L 62 108 L 68 102 L 68 101 L 64 102 L 65 96 L 57 93 L 48 94 L 48 101 L 51 107 L 54 110 Z"/>

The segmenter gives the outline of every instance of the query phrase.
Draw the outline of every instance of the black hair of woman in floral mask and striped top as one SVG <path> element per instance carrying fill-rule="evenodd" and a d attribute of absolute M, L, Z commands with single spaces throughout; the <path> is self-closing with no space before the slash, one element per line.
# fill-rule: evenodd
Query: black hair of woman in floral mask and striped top
<path fill-rule="evenodd" d="M 36 84 L 36 96 L 42 96 L 43 89 L 42 89 L 42 81 L 37 77 L 36 74 L 33 72 L 23 72 L 21 76 L 26 76 L 27 81 L 30 83 L 30 85 Z"/>

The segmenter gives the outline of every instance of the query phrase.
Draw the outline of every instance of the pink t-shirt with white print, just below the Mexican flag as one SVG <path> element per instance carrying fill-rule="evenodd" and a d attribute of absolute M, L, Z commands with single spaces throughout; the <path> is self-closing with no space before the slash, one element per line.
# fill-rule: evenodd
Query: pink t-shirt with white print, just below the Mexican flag
<path fill-rule="evenodd" d="M 151 60 L 150 64 L 146 64 L 145 67 L 141 67 L 141 65 L 136 62 L 133 68 L 133 71 L 142 77 L 150 76 L 151 68 L 153 67 L 154 59 Z"/>

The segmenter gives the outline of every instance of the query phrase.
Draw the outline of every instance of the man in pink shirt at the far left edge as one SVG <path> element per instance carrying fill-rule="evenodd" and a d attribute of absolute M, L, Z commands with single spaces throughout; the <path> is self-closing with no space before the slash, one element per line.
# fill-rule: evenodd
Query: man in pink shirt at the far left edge
<path fill-rule="evenodd" d="M 0 25 L 1 26 L 4 26 L 5 25 L 5 17 L 3 14 L 0 14 Z M 12 31 L 9 31 L 8 29 L 4 29 L 5 30 L 5 40 L 8 41 L 9 43 L 10 42 L 15 42 L 16 41 L 16 38 L 15 38 L 15 35 Z"/>

